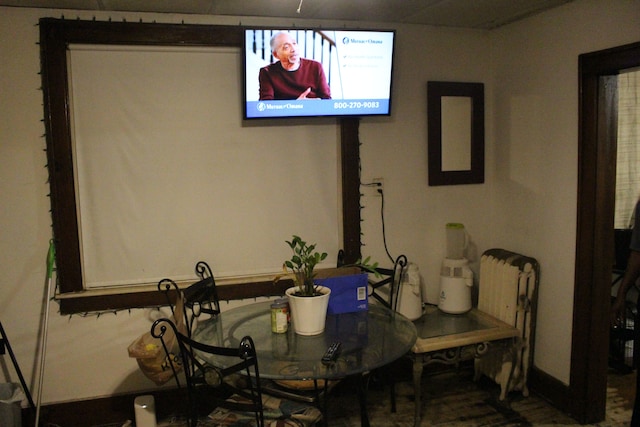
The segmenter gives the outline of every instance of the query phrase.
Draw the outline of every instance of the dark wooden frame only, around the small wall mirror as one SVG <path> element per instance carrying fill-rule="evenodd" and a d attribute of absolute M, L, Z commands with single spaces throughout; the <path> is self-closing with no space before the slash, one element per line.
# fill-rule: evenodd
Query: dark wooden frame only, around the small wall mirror
<path fill-rule="evenodd" d="M 442 168 L 442 98 L 471 98 L 471 168 L 445 171 Z M 480 184 L 484 182 L 484 84 L 427 82 L 429 185 Z"/>

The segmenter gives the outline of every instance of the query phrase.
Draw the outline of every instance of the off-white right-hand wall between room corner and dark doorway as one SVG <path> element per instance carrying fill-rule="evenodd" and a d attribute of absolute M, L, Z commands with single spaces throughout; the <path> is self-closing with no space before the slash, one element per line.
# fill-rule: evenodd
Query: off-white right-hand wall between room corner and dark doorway
<path fill-rule="evenodd" d="M 573 316 L 578 56 L 637 41 L 640 2 L 628 0 L 569 3 L 492 32 L 492 215 L 503 224 L 492 244 L 538 258 L 543 281 L 536 365 L 565 383 Z"/>

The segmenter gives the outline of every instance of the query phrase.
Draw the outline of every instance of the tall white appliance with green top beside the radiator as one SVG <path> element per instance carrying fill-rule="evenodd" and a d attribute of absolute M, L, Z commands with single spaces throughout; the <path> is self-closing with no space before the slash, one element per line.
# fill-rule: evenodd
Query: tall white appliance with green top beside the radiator
<path fill-rule="evenodd" d="M 467 233 L 464 225 L 448 223 L 447 256 L 440 269 L 440 301 L 438 308 L 450 314 L 462 314 L 471 310 L 473 271 L 464 257 Z"/>

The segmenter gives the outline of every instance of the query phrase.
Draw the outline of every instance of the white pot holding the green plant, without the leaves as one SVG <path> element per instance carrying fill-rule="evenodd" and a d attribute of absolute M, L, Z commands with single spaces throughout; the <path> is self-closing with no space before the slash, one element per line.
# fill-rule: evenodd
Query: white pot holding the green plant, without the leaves
<path fill-rule="evenodd" d="M 291 323 L 293 330 L 298 335 L 318 335 L 324 332 L 327 320 L 327 307 L 331 289 L 324 286 L 317 288 L 322 295 L 314 297 L 296 296 L 296 286 L 289 288 L 285 294 L 289 298 L 291 310 Z"/>

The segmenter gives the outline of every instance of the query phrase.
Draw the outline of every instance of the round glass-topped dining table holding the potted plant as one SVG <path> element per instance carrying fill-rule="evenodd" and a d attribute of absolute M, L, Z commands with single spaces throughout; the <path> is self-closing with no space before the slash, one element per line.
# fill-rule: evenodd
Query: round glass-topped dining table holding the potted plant
<path fill-rule="evenodd" d="M 369 426 L 365 378 L 374 369 L 410 352 L 417 338 L 414 323 L 382 304 L 371 303 L 366 310 L 327 315 L 324 332 L 318 335 L 298 335 L 291 326 L 284 333 L 275 333 L 271 328 L 271 303 L 263 301 L 222 311 L 200 322 L 193 338 L 210 345 L 234 347 L 243 337 L 250 336 L 261 379 L 311 381 L 317 387 L 318 380 L 326 384 L 355 376 L 359 382 L 361 425 Z M 341 344 L 337 358 L 323 363 L 322 356 L 335 342 Z M 214 366 L 225 367 L 222 359 L 202 356 Z"/>

